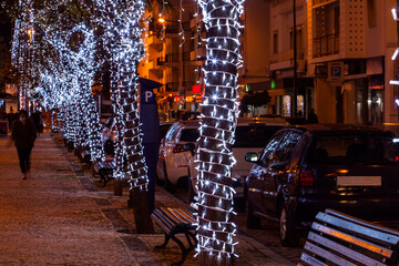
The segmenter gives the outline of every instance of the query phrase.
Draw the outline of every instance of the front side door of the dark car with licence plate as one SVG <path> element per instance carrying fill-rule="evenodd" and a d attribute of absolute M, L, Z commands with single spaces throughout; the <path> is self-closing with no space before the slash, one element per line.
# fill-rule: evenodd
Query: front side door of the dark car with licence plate
<path fill-rule="evenodd" d="M 248 204 L 255 212 L 265 213 L 263 204 L 264 180 L 266 177 L 267 162 L 273 156 L 285 132 L 278 132 L 266 144 L 260 153 L 258 163 L 254 164 L 248 175 Z"/>

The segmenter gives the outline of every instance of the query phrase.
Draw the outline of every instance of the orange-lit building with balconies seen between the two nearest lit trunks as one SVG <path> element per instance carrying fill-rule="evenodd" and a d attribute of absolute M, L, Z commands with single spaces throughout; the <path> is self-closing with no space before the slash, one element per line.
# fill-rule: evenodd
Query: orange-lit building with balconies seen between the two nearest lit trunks
<path fill-rule="evenodd" d="M 142 78 L 163 84 L 155 90 L 160 115 L 171 119 L 178 110 L 195 111 L 202 101 L 202 70 L 205 60 L 204 32 L 196 3 L 168 1 L 158 4 L 153 1 L 146 16 L 146 57 L 139 65 Z M 184 10 L 184 11 L 183 11 Z M 173 113 L 172 113 L 173 111 Z"/>

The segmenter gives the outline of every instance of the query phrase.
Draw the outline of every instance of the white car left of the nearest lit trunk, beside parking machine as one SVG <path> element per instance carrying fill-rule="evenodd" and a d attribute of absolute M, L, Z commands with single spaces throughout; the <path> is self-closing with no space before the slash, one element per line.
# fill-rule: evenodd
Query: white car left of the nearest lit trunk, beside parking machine
<path fill-rule="evenodd" d="M 190 147 L 200 137 L 198 127 L 200 121 L 176 122 L 161 141 L 156 173 L 166 188 L 173 190 L 178 180 L 188 176 L 187 162 L 193 150 Z"/>

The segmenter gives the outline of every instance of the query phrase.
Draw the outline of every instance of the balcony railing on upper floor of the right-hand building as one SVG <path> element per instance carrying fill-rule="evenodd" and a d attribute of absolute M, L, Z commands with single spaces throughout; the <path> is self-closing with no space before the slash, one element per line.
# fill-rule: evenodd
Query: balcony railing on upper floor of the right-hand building
<path fill-rule="evenodd" d="M 329 34 L 313 40 L 313 57 L 320 58 L 339 53 L 339 34 Z"/>

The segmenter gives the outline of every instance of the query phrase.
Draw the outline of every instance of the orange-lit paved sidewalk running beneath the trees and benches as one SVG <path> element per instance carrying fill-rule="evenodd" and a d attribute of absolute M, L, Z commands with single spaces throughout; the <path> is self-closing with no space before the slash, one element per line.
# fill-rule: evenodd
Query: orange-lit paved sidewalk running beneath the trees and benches
<path fill-rule="evenodd" d="M 180 259 L 174 243 L 157 234 L 139 235 L 124 196 L 113 196 L 112 182 L 96 186 L 61 141 L 41 135 L 32 152 L 31 176 L 23 181 L 16 149 L 0 137 L 0 265 L 170 265 Z M 156 206 L 185 206 L 162 188 Z M 238 236 L 236 265 L 289 265 L 290 262 Z M 192 253 L 194 254 L 194 253 Z M 188 256 L 185 265 L 197 265 Z"/>

